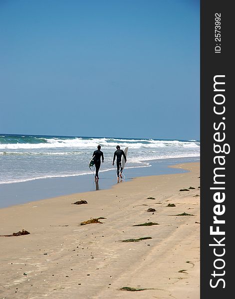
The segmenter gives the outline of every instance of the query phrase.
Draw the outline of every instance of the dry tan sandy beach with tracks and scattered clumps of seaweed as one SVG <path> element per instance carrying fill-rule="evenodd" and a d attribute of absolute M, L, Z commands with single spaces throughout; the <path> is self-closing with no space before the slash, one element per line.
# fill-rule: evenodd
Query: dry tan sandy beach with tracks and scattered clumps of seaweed
<path fill-rule="evenodd" d="M 190 172 L 0 209 L 0 235 L 30 232 L 0 237 L 0 299 L 199 299 L 200 163 L 175 167 Z"/>

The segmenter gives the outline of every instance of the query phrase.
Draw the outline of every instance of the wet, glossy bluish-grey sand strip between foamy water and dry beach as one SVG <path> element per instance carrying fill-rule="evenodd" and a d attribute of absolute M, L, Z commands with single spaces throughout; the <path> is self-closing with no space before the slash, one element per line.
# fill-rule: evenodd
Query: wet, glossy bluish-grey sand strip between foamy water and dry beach
<path fill-rule="evenodd" d="M 133 177 L 184 172 L 185 170 L 173 169 L 169 166 L 199 160 L 200 157 L 148 160 L 151 166 L 125 168 L 125 182 Z M 98 184 L 95 184 L 92 174 L 0 184 L 0 208 L 30 202 L 32 198 L 41 200 L 79 192 L 109 189 L 116 183 L 116 171 L 113 168 L 113 170 L 101 172 Z"/>

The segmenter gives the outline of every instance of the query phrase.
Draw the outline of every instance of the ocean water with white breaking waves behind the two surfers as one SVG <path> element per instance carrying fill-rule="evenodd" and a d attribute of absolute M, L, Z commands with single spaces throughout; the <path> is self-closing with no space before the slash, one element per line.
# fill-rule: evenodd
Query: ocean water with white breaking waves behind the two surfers
<path fill-rule="evenodd" d="M 116 146 L 128 147 L 126 168 L 151 167 L 150 160 L 200 156 L 200 141 L 0 134 L 0 184 L 91 173 L 88 163 L 101 146 L 100 172 L 114 170 Z"/>

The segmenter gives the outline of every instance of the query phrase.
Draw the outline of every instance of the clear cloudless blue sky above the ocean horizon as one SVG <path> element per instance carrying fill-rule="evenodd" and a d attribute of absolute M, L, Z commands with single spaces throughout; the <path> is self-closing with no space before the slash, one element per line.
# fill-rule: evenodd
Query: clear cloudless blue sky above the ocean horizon
<path fill-rule="evenodd" d="M 200 139 L 199 0 L 0 0 L 0 133 Z"/>

